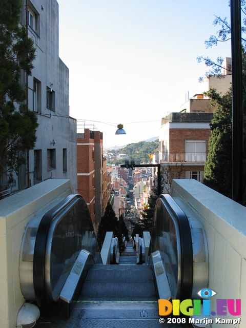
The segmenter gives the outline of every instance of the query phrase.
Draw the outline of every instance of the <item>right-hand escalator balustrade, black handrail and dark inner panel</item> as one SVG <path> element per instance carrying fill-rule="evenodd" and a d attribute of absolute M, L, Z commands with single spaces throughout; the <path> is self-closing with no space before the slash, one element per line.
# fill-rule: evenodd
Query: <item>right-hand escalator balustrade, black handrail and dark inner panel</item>
<path fill-rule="evenodd" d="M 193 248 L 188 218 L 170 195 L 156 202 L 152 253 L 160 251 L 172 298 L 189 299 L 193 284 Z"/>

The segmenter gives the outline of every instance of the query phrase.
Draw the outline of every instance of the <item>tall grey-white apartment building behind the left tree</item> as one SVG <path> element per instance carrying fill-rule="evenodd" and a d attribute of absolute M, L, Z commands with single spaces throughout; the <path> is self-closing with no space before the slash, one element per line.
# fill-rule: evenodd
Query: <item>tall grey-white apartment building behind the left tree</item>
<path fill-rule="evenodd" d="M 26 0 L 20 23 L 26 25 Z M 20 168 L 14 189 L 47 179 L 70 179 L 77 189 L 76 120 L 69 116 L 69 70 L 59 58 L 59 19 L 56 0 L 28 0 L 28 36 L 36 58 L 28 84 L 28 107 L 38 117 L 35 149 L 27 166 Z M 12 191 L 13 191 L 12 190 Z"/>

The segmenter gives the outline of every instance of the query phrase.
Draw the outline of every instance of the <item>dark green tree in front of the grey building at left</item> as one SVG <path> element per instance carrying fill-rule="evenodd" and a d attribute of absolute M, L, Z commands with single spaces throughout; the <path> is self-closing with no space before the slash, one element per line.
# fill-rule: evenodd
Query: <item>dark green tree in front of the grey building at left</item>
<path fill-rule="evenodd" d="M 0 0 L 0 176 L 6 174 L 9 183 L 34 148 L 38 126 L 19 83 L 22 71 L 31 75 L 35 58 L 33 40 L 19 25 L 21 9 L 22 0 Z"/>

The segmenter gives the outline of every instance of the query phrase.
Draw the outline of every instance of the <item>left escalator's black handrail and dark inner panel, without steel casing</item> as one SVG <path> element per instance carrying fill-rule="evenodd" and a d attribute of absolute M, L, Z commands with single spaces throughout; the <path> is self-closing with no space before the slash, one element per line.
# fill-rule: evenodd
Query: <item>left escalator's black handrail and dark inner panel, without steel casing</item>
<path fill-rule="evenodd" d="M 33 282 L 39 306 L 49 307 L 59 294 L 82 249 L 99 254 L 90 212 L 80 195 L 48 212 L 39 224 L 34 256 Z"/>

